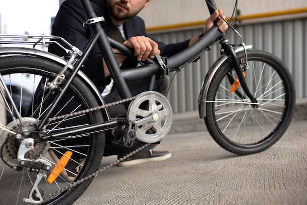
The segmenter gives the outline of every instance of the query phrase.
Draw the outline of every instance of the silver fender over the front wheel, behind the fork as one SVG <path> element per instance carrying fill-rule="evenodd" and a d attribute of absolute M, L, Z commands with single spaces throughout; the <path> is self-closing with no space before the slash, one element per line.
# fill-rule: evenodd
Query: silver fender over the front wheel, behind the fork
<path fill-rule="evenodd" d="M 246 45 L 245 48 L 247 50 L 252 49 L 253 45 Z M 243 46 L 235 46 L 233 47 L 234 52 L 238 53 L 241 51 L 244 51 Z M 211 80 L 214 76 L 214 74 L 216 73 L 216 71 L 219 69 L 219 67 L 227 60 L 229 59 L 229 56 L 221 56 L 219 59 L 217 59 L 212 66 L 210 67 L 209 71 L 206 74 L 206 77 L 203 81 L 202 84 L 202 88 L 201 88 L 201 92 L 198 98 L 198 108 L 199 108 L 199 117 L 200 118 L 205 118 L 206 117 L 206 98 L 207 98 L 207 93 L 208 93 L 208 89 L 209 89 L 209 85 L 211 83 Z"/>

